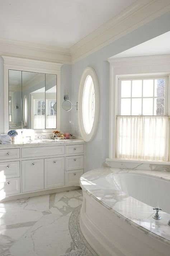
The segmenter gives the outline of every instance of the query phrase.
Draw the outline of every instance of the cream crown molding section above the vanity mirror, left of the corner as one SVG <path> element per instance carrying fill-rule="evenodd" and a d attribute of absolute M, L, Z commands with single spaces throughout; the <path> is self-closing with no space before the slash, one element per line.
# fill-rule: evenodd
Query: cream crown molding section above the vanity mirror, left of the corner
<path fill-rule="evenodd" d="M 0 38 L 0 55 L 71 63 L 69 49 Z"/>

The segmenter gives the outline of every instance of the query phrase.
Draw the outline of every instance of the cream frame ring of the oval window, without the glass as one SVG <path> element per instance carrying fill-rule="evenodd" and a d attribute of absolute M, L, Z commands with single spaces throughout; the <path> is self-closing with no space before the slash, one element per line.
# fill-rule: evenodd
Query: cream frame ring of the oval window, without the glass
<path fill-rule="evenodd" d="M 85 81 L 88 76 L 91 76 L 94 85 L 94 93 L 95 93 L 95 111 L 94 111 L 94 122 L 91 128 L 91 132 L 88 134 L 85 131 L 84 122 L 83 122 L 83 113 L 82 113 L 82 102 L 83 102 L 83 93 Z M 98 77 L 96 75 L 95 70 L 92 67 L 87 67 L 80 80 L 80 88 L 79 88 L 79 105 L 78 105 L 78 118 L 79 118 L 79 128 L 81 137 L 85 141 L 91 141 L 96 133 L 98 122 L 99 122 L 99 111 L 100 111 L 100 93 L 99 93 L 99 82 Z"/>

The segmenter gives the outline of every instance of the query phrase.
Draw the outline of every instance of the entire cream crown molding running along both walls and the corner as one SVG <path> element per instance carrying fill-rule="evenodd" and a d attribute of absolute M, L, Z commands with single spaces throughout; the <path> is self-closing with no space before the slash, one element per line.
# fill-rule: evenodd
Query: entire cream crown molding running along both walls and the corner
<path fill-rule="evenodd" d="M 170 0 L 137 0 L 70 49 L 0 38 L 0 55 L 71 64 L 170 11 Z"/>

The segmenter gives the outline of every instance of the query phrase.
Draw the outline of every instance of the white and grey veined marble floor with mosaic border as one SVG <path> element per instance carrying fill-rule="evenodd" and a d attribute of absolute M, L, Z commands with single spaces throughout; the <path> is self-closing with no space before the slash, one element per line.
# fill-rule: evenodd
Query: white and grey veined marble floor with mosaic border
<path fill-rule="evenodd" d="M 96 256 L 80 231 L 81 204 L 81 189 L 0 203 L 0 256 Z"/>

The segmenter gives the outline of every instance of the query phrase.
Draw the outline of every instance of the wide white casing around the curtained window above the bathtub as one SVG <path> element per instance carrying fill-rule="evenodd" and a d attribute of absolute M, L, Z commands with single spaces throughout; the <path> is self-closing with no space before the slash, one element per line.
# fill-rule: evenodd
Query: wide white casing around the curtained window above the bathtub
<path fill-rule="evenodd" d="M 110 100 L 109 100 L 109 157 L 107 161 L 120 161 L 116 158 L 116 116 L 118 114 L 119 79 L 142 76 L 168 76 L 168 92 L 170 92 L 170 54 L 159 56 L 142 56 L 128 58 L 109 58 L 110 63 Z M 170 94 L 170 93 L 169 93 Z M 167 115 L 170 113 L 170 95 L 168 94 Z M 170 136 L 169 136 L 170 137 Z M 169 138 L 170 146 L 170 138 Z M 170 150 L 169 150 L 170 159 Z M 154 161 L 123 160 L 129 162 Z M 167 162 L 170 164 L 170 162 Z"/>

